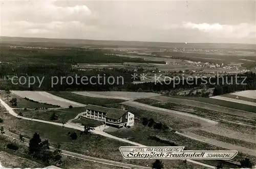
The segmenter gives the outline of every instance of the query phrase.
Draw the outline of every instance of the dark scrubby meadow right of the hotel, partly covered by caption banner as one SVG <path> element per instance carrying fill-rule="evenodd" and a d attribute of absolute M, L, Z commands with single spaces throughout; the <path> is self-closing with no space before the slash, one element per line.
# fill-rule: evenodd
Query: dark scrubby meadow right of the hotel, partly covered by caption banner
<path fill-rule="evenodd" d="M 136 126 L 130 129 L 118 129 L 117 131 L 109 132 L 109 133 L 118 137 L 129 138 L 129 140 L 131 141 L 136 141 L 146 146 L 171 146 L 168 143 L 163 143 L 163 142 L 156 141 L 149 138 L 149 136 L 157 136 L 162 140 L 168 140 L 171 143 L 175 143 L 177 146 L 184 146 L 186 150 L 223 150 L 223 148 L 212 146 L 211 144 L 204 143 L 201 141 L 193 140 L 170 131 L 154 130 L 138 124 L 136 124 Z M 230 162 L 239 163 L 239 161 L 243 159 L 243 157 L 250 157 L 250 156 L 239 153 L 239 155 L 235 157 L 233 160 L 231 160 Z M 250 157 L 250 158 L 253 158 L 253 157 Z M 173 161 L 173 160 L 169 160 L 169 161 Z M 200 161 L 200 162 L 203 162 L 209 165 L 214 165 L 214 166 L 216 166 L 220 162 L 218 160 L 196 160 L 196 161 Z M 236 165 L 225 164 L 225 167 L 234 168 L 236 167 Z M 181 168 L 181 166 L 179 168 Z M 202 166 L 199 168 L 202 168 Z"/>

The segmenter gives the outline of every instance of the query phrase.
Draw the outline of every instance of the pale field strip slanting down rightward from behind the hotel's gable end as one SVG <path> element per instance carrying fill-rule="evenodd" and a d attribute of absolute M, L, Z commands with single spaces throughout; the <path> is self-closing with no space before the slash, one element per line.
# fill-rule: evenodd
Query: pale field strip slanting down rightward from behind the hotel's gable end
<path fill-rule="evenodd" d="M 169 109 L 164 109 L 164 108 L 160 108 L 160 107 L 150 106 L 150 105 L 146 105 L 146 104 L 139 103 L 139 102 L 124 102 L 122 104 L 127 105 L 127 106 L 136 107 L 136 108 L 143 109 L 143 110 L 157 111 L 159 113 L 168 114 L 171 116 L 176 116 L 179 118 L 187 119 L 187 120 L 190 120 L 190 121 L 193 121 L 196 123 L 200 123 L 202 126 L 218 124 L 218 122 L 215 122 L 214 120 L 199 117 L 194 114 L 189 114 L 189 113 L 185 113 L 185 112 L 181 112 L 181 111 L 175 111 L 175 110 L 169 110 Z"/>

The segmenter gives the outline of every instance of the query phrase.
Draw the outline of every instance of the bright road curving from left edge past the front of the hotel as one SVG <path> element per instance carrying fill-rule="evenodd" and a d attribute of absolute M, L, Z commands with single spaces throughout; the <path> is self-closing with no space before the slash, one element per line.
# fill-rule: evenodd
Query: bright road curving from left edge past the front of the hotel
<path fill-rule="evenodd" d="M 22 117 L 22 116 L 19 116 L 17 115 L 13 109 L 8 105 L 6 104 L 2 99 L 0 99 L 0 102 L 1 104 L 7 109 L 7 111 L 15 116 L 15 117 L 18 117 L 18 118 L 23 118 L 23 119 L 27 119 L 27 120 L 31 120 L 31 121 L 34 121 L 34 122 L 40 122 L 40 123 L 47 123 L 47 124 L 51 124 L 51 125 L 56 125 L 56 126 L 63 126 L 63 127 L 67 127 L 67 128 L 72 128 L 72 129 L 76 129 L 76 130 L 80 130 L 80 131 L 84 131 L 84 128 L 82 128 L 81 126 L 77 126 L 77 125 L 74 125 L 74 124 L 70 124 L 70 123 L 67 123 L 67 124 L 61 124 L 61 123 L 55 123 L 55 122 L 48 122 L 46 120 L 40 120 L 40 119 L 33 119 L 33 118 L 27 118 L 27 117 Z M 138 102 L 136 102 L 138 103 Z M 166 109 L 167 110 L 167 109 Z M 123 138 L 119 138 L 119 137 L 116 137 L 116 136 L 113 136 L 111 134 L 108 134 L 108 133 L 105 133 L 103 131 L 98 131 L 98 130 L 93 130 L 92 131 L 93 133 L 95 134 L 99 134 L 99 135 L 102 135 L 102 136 L 105 136 L 105 137 L 109 137 L 109 138 L 113 138 L 113 139 L 116 139 L 116 140 L 119 140 L 119 141 L 123 141 L 123 142 L 127 142 L 127 143 L 130 143 L 130 144 L 133 144 L 135 146 L 140 146 L 140 147 L 146 147 L 140 143 L 137 143 L 137 142 L 133 142 L 133 141 L 129 141 L 129 140 L 126 140 L 126 139 L 123 139 Z M 72 152 L 70 152 L 72 153 Z M 76 154 L 76 153 L 73 153 L 73 154 Z M 79 154 L 79 156 L 82 156 L 84 157 L 84 155 L 81 155 Z M 94 158 L 94 157 L 92 157 Z M 192 163 L 195 163 L 195 164 L 198 164 L 198 165 L 202 165 L 202 166 L 205 166 L 205 167 L 208 167 L 208 168 L 216 168 L 215 166 L 211 166 L 211 165 L 208 165 L 208 164 L 204 164 L 204 163 L 201 163 L 201 162 L 198 162 L 198 161 L 194 161 L 194 160 L 187 160 L 188 162 L 192 162 Z M 147 167 L 148 168 L 148 167 Z M 142 168 L 141 168 L 142 169 Z"/>

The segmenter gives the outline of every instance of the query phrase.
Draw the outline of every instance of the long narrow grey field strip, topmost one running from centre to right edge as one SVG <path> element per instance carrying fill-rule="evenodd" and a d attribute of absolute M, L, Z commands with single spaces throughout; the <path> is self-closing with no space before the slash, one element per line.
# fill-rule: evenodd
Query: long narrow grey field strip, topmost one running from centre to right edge
<path fill-rule="evenodd" d="M 232 109 L 232 108 L 218 106 L 218 105 L 213 105 L 213 104 L 209 104 L 209 103 L 188 100 L 188 99 L 172 98 L 172 97 L 163 96 L 163 95 L 156 96 L 151 99 L 154 99 L 157 101 L 162 101 L 162 102 L 169 102 L 169 103 L 176 103 L 176 104 L 181 104 L 181 105 L 186 105 L 186 106 L 198 107 L 198 108 L 202 108 L 202 109 L 206 109 L 206 110 L 219 111 L 222 113 L 237 115 L 237 116 L 242 116 L 242 117 L 256 118 L 256 113 Z"/>

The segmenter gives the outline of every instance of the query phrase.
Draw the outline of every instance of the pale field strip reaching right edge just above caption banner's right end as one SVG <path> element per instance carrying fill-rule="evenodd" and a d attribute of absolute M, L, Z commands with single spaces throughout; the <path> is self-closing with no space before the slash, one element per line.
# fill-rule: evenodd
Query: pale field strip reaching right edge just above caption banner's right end
<path fill-rule="evenodd" d="M 252 150 L 252 149 L 248 149 L 248 148 L 245 148 L 245 147 L 236 146 L 236 145 L 233 145 L 233 144 L 230 144 L 230 143 L 227 143 L 227 142 L 219 141 L 219 140 L 212 139 L 212 138 L 207 138 L 207 137 L 200 136 L 200 135 L 197 135 L 197 134 L 191 133 L 191 132 L 184 132 L 184 133 L 178 133 L 177 132 L 177 134 L 180 134 L 182 136 L 185 136 L 185 137 L 188 137 L 188 138 L 191 138 L 191 139 L 194 139 L 194 140 L 205 142 L 205 143 L 217 146 L 217 147 L 222 147 L 224 149 L 236 150 L 236 151 L 239 151 L 239 152 L 242 152 L 242 153 L 245 153 L 245 154 L 256 156 L 256 149 Z"/>

